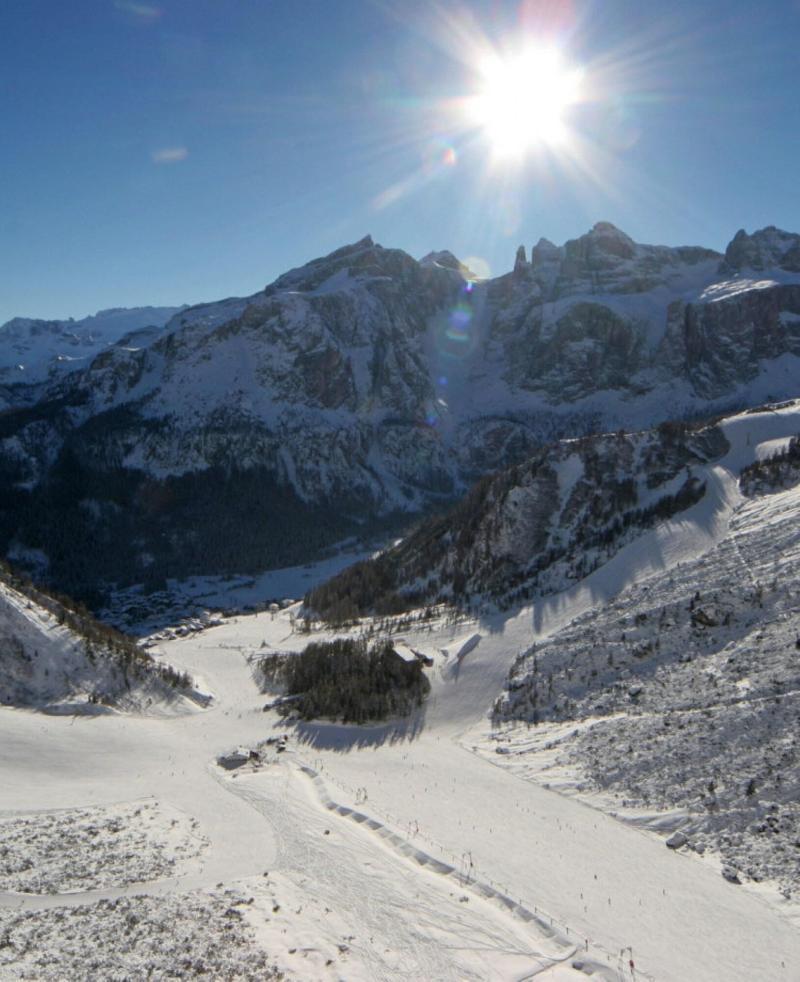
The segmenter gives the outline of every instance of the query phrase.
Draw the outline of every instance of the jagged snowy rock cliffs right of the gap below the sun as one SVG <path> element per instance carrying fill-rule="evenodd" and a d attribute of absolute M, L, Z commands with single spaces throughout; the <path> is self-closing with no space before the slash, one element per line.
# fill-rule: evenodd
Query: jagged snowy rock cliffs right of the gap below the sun
<path fill-rule="evenodd" d="M 799 237 L 739 236 L 722 263 L 709 249 L 638 245 L 608 222 L 561 249 L 541 240 L 530 264 L 522 249 L 490 293 L 510 377 L 560 403 L 643 397 L 665 382 L 718 399 L 797 356 Z M 753 277 L 765 270 L 774 278 Z"/>

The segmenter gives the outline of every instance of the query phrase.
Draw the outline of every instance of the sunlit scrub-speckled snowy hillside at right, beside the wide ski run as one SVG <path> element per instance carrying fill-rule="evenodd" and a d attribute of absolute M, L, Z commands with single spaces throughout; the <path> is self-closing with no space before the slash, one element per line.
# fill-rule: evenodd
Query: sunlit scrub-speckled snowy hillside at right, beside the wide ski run
<path fill-rule="evenodd" d="M 678 845 L 711 850 L 731 878 L 796 898 L 798 517 L 795 472 L 794 486 L 739 498 L 710 551 L 529 649 L 487 749 L 516 774 L 679 829 Z"/>

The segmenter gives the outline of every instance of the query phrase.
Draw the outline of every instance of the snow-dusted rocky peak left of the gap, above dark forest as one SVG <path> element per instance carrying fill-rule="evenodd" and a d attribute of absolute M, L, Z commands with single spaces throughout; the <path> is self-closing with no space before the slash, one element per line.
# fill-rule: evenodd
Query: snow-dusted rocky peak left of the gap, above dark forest
<path fill-rule="evenodd" d="M 367 238 L 222 310 L 190 309 L 149 348 L 111 349 L 78 380 L 82 421 L 111 424 L 92 453 L 159 476 L 260 462 L 309 501 L 400 503 L 400 483 L 412 498 L 451 491 L 424 426 L 425 340 L 463 286 Z"/>

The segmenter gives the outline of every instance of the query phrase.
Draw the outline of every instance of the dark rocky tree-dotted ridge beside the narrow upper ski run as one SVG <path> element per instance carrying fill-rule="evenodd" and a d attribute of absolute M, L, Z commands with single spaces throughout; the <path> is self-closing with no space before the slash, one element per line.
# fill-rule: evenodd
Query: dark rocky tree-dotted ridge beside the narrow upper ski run
<path fill-rule="evenodd" d="M 343 621 L 442 601 L 507 609 L 557 592 L 701 500 L 703 465 L 729 449 L 716 425 L 563 440 L 485 478 L 449 513 L 310 591 L 308 604 Z"/>

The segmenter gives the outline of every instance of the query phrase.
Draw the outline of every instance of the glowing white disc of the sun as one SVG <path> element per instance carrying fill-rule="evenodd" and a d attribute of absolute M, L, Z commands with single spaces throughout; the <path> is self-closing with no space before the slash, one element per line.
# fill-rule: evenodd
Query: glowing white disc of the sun
<path fill-rule="evenodd" d="M 554 48 L 493 55 L 481 65 L 481 86 L 469 104 L 471 121 L 500 157 L 563 144 L 568 110 L 581 96 L 581 74 Z"/>

